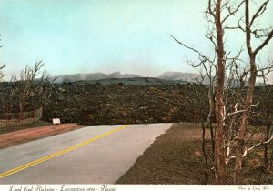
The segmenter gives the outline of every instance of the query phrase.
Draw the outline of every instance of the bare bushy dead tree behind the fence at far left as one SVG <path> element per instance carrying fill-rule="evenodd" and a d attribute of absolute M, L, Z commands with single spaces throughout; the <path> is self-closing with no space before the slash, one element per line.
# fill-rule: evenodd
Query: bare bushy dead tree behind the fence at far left
<path fill-rule="evenodd" d="M 50 79 L 44 69 L 42 61 L 35 63 L 33 67 L 26 65 L 19 75 L 13 75 L 10 88 L 6 93 L 9 96 L 9 112 L 18 112 L 21 115 L 30 110 L 40 108 L 51 95 L 52 84 L 56 80 Z M 20 116 L 19 118 L 21 119 Z"/>

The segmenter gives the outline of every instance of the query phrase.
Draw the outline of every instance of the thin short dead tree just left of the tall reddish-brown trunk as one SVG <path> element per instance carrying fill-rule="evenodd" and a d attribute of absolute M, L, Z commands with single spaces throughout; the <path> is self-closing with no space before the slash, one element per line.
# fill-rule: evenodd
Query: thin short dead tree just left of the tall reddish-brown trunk
<path fill-rule="evenodd" d="M 190 62 L 191 63 L 191 62 Z M 194 107 L 195 116 L 198 118 L 198 123 L 201 123 L 202 128 L 202 152 L 205 162 L 205 172 L 204 172 L 204 183 L 208 184 L 210 180 L 210 174 L 213 172 L 213 161 L 214 161 L 214 148 L 215 148 L 215 128 L 213 126 L 213 116 L 214 116 L 214 97 L 215 91 L 213 88 L 214 77 L 212 75 L 207 75 L 211 73 L 211 68 L 207 69 L 206 63 L 198 63 L 197 65 L 204 65 L 205 72 L 200 71 L 200 76 L 193 78 L 194 82 L 192 90 L 194 95 L 191 97 L 191 106 Z M 191 63 L 190 65 L 196 66 L 196 64 Z M 211 65 L 208 65 L 211 66 Z M 208 84 L 208 85 L 207 85 Z M 207 102 L 208 100 L 208 102 Z M 196 123 L 196 122 L 195 122 Z M 210 139 L 207 143 L 206 131 L 210 132 Z M 211 156 L 211 157 L 210 157 Z"/>

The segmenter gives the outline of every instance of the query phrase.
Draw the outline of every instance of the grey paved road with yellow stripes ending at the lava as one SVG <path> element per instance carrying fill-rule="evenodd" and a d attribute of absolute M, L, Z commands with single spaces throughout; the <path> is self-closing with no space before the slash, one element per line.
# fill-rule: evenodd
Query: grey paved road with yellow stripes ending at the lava
<path fill-rule="evenodd" d="M 170 126 L 87 126 L 2 149 L 0 184 L 113 184 Z"/>

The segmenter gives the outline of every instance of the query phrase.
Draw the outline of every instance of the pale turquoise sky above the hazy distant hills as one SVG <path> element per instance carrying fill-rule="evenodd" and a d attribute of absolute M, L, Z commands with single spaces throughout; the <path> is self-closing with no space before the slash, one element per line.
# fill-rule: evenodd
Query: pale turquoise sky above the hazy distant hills
<path fill-rule="evenodd" d="M 196 55 L 169 35 L 209 54 L 206 8 L 206 0 L 0 0 L 0 64 L 6 76 L 38 60 L 52 75 L 197 72 L 186 62 Z M 232 47 L 244 40 L 230 39 Z M 273 43 L 259 56 L 270 50 Z"/>

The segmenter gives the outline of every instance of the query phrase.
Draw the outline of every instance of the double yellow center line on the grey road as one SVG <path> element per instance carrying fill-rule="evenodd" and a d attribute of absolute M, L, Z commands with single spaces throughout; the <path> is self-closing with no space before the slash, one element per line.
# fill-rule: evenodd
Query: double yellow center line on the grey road
<path fill-rule="evenodd" d="M 96 141 L 96 140 L 98 140 L 98 139 L 100 139 L 100 138 L 103 138 L 103 137 L 105 137 L 105 136 L 109 136 L 109 135 L 111 135 L 111 134 L 113 134 L 113 133 L 116 133 L 117 131 L 120 131 L 120 130 L 124 129 L 124 128 L 126 128 L 127 126 L 130 126 L 130 125 L 119 126 L 119 127 L 115 128 L 115 129 L 113 129 L 113 130 L 111 130 L 111 131 L 106 132 L 105 134 L 102 134 L 102 135 L 96 136 L 96 137 L 94 137 L 94 138 L 88 139 L 88 140 L 86 140 L 86 141 L 84 141 L 84 142 L 82 142 L 82 143 L 79 143 L 79 144 L 75 145 L 75 146 L 70 146 L 70 147 L 68 147 L 68 148 L 66 148 L 66 149 L 64 149 L 64 150 L 61 150 L 61 151 L 56 152 L 56 153 L 54 153 L 54 154 L 51 154 L 51 155 L 49 155 L 49 156 L 42 157 L 42 158 L 37 159 L 37 160 L 35 160 L 35 161 L 31 162 L 31 163 L 25 164 L 24 166 L 15 167 L 14 169 L 8 170 L 8 171 L 6 171 L 5 173 L 0 174 L 0 178 L 3 178 L 3 177 L 5 177 L 5 176 L 13 175 L 13 174 L 15 174 L 15 173 L 17 173 L 17 172 L 20 172 L 20 171 L 22 171 L 22 170 L 24 170 L 24 169 L 26 169 L 26 168 L 29 168 L 29 167 L 31 167 L 31 166 L 38 165 L 38 164 L 40 164 L 40 163 L 45 162 L 46 160 L 49 160 L 49 159 L 51 159 L 51 158 L 56 157 L 56 156 L 64 155 L 64 154 L 66 154 L 66 153 L 68 153 L 68 152 L 70 152 L 70 151 L 75 150 L 76 148 L 79 148 L 79 147 L 82 147 L 82 146 L 86 146 L 87 144 L 90 144 L 90 143 L 92 143 L 92 142 L 94 142 L 94 141 Z"/>

